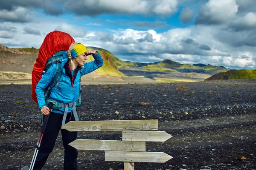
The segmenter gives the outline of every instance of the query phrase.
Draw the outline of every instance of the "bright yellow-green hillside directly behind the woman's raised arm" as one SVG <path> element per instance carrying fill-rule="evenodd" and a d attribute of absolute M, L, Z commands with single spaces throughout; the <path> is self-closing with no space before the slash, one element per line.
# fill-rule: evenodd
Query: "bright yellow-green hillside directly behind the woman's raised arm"
<path fill-rule="evenodd" d="M 116 77 L 125 77 L 125 74 L 122 74 L 118 68 L 116 67 L 115 62 L 113 59 L 117 59 L 111 52 L 104 50 L 102 48 L 96 47 L 87 47 L 87 50 L 96 50 L 99 51 L 100 55 L 104 60 L 104 65 L 96 70 L 96 73 L 100 75 L 111 75 Z M 92 61 L 93 57 L 89 56 L 88 61 Z"/>

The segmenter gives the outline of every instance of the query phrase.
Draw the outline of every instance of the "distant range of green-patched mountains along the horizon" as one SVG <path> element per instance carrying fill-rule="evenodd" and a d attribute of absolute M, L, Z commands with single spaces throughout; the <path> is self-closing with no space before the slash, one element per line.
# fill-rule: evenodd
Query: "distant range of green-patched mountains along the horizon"
<path fill-rule="evenodd" d="M 164 59 L 161 62 L 154 63 L 140 63 L 140 62 L 123 62 L 120 59 L 113 59 L 116 63 L 117 68 L 123 69 L 134 69 L 134 70 L 144 70 L 144 71 L 159 71 L 159 72 L 181 72 L 181 73 L 202 73 L 202 74 L 217 74 L 220 72 L 229 71 L 223 66 L 213 66 L 204 64 L 180 64 L 169 59 Z"/>

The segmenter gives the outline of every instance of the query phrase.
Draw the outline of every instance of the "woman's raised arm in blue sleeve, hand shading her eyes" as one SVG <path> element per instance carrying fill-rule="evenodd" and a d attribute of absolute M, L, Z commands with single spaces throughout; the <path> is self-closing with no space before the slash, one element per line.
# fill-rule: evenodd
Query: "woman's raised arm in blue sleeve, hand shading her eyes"
<path fill-rule="evenodd" d="M 94 50 L 91 50 L 91 51 L 94 51 Z M 87 54 L 87 55 L 90 55 L 90 54 Z M 100 56 L 99 52 L 96 51 L 96 54 L 94 53 L 92 55 L 93 55 L 94 61 L 84 63 L 84 68 L 82 68 L 82 76 L 100 68 L 103 65 L 103 59 Z"/>

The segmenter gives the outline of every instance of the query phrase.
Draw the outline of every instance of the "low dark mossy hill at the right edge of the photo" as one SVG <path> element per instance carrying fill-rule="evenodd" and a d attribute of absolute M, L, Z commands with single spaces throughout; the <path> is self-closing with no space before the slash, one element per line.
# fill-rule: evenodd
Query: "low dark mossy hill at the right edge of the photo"
<path fill-rule="evenodd" d="M 230 70 L 224 73 L 218 73 L 205 79 L 218 80 L 218 79 L 256 79 L 256 70 Z"/>

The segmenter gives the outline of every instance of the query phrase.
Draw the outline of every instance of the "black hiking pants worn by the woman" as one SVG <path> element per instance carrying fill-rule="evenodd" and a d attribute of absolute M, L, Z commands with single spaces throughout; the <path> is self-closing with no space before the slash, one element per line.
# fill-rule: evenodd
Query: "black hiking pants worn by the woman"
<path fill-rule="evenodd" d="M 71 115 L 72 116 L 71 116 Z M 71 119 L 70 119 L 71 116 Z M 45 116 L 44 116 L 45 118 Z M 59 130 L 61 129 L 61 123 L 63 114 L 51 112 L 49 114 L 49 120 L 47 127 L 42 138 L 41 146 L 38 151 L 37 158 L 35 160 L 35 166 L 33 170 L 41 170 L 49 154 L 52 152 L 58 137 Z M 75 121 L 73 113 L 67 114 L 66 122 Z M 64 170 L 77 170 L 77 150 L 76 148 L 68 145 L 77 138 L 77 132 L 70 132 L 65 129 L 61 129 L 62 141 L 64 146 Z"/>

